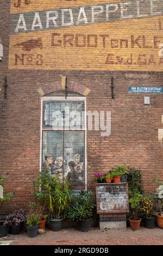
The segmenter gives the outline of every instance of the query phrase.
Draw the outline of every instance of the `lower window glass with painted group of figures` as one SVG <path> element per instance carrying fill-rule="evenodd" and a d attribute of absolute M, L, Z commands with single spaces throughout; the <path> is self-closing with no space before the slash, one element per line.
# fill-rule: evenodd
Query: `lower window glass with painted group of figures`
<path fill-rule="evenodd" d="M 64 140 L 63 140 L 64 136 Z M 64 153 L 63 153 L 64 147 Z M 63 176 L 74 189 L 85 186 L 84 131 L 43 131 L 42 170 Z"/>

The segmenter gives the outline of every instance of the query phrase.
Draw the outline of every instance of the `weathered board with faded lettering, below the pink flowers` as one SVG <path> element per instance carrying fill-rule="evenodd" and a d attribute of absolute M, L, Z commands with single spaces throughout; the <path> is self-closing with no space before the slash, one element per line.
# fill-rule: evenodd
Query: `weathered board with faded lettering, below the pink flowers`
<path fill-rule="evenodd" d="M 97 213 L 129 212 L 128 184 L 96 184 Z"/>

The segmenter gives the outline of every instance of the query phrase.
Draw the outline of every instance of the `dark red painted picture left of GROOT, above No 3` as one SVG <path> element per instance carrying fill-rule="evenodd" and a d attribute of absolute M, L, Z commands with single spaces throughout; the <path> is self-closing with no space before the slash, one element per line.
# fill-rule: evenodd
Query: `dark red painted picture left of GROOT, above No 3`
<path fill-rule="evenodd" d="M 20 42 L 20 43 L 14 45 L 14 47 L 16 47 L 16 46 L 22 46 L 23 51 L 28 51 L 28 52 L 34 48 L 40 48 L 40 49 L 43 48 L 41 38 L 31 39 L 31 40 L 28 40 L 25 42 Z"/>

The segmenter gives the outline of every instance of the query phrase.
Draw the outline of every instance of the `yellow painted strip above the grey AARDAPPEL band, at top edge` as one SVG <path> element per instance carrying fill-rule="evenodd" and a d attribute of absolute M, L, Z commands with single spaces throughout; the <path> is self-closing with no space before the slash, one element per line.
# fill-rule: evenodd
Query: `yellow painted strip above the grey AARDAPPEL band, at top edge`
<path fill-rule="evenodd" d="M 11 13 L 27 13 L 29 11 L 51 10 L 104 3 L 128 2 L 127 0 L 11 0 Z"/>

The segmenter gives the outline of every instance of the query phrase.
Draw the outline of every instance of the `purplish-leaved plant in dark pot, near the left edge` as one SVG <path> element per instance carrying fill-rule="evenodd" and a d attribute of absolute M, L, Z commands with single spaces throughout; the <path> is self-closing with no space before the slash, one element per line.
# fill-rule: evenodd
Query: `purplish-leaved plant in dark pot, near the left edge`
<path fill-rule="evenodd" d="M 4 224 L 8 224 L 9 230 L 12 235 L 20 234 L 23 228 L 23 222 L 25 221 L 24 211 L 15 210 L 9 214 L 4 221 Z"/>

